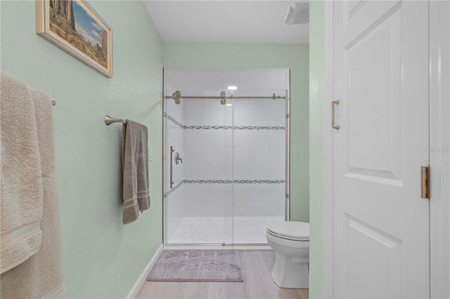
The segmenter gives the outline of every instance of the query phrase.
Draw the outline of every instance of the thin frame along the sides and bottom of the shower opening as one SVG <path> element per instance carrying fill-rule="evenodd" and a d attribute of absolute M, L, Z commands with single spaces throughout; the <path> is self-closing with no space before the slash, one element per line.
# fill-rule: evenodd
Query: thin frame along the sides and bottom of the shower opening
<path fill-rule="evenodd" d="M 260 243 L 167 243 L 165 239 L 165 68 L 162 68 L 162 244 L 163 246 L 264 246 Z M 233 198 L 234 200 L 234 198 Z M 290 221 L 290 68 L 288 69 L 288 89 L 285 89 L 285 221 Z M 233 231 L 232 231 L 233 233 Z"/>

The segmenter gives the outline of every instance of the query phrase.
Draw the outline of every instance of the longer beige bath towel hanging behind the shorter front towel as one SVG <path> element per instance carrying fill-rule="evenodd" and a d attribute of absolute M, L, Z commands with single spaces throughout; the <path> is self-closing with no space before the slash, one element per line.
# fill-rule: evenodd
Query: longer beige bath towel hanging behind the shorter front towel
<path fill-rule="evenodd" d="M 2 299 L 65 298 L 65 272 L 56 180 L 51 99 L 30 89 L 36 113 L 43 186 L 40 250 L 17 267 L 1 274 Z"/>

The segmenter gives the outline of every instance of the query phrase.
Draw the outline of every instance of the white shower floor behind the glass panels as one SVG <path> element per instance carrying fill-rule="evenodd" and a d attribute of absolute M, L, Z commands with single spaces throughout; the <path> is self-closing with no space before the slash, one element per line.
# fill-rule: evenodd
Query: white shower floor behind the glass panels
<path fill-rule="evenodd" d="M 266 246 L 266 229 L 282 216 L 182 217 L 166 246 Z"/>

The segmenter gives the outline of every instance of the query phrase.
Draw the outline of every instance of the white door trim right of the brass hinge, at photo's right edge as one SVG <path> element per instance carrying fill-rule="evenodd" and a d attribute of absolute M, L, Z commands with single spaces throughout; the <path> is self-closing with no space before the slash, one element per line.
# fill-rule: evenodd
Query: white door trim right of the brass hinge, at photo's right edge
<path fill-rule="evenodd" d="M 449 18 L 449 1 L 430 1 L 430 298 L 450 298 Z"/>

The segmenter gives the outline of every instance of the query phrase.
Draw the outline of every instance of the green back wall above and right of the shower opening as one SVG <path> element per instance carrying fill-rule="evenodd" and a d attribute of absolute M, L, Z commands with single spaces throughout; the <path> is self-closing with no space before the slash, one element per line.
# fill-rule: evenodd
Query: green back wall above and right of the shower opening
<path fill-rule="evenodd" d="M 165 43 L 173 68 L 290 68 L 291 219 L 309 222 L 309 46 Z"/>

